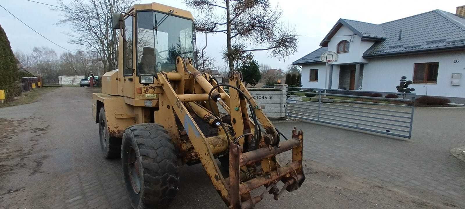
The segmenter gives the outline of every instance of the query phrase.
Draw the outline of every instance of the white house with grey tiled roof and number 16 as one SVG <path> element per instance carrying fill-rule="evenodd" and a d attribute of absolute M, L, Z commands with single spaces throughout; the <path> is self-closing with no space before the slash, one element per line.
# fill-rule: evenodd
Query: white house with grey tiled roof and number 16
<path fill-rule="evenodd" d="M 382 24 L 339 19 L 320 48 L 292 65 L 302 66 L 305 88 L 395 92 L 406 76 L 418 95 L 465 103 L 464 16 L 461 6 L 456 14 L 437 9 Z M 321 62 L 327 51 L 339 60 Z"/>

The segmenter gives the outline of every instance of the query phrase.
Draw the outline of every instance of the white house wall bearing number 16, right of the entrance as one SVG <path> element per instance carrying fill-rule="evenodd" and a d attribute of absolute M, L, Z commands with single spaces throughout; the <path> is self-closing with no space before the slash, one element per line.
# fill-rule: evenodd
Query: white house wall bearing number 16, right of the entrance
<path fill-rule="evenodd" d="M 454 60 L 459 60 L 455 62 Z M 463 62 L 461 62 L 464 60 Z M 413 93 L 428 96 L 465 98 L 465 52 L 443 52 L 392 58 L 370 59 L 365 64 L 362 90 L 397 91 L 399 79 L 406 76 L 413 78 L 415 63 L 439 62 L 437 84 L 412 84 Z M 451 85 L 452 73 L 462 73 L 460 85 Z"/>

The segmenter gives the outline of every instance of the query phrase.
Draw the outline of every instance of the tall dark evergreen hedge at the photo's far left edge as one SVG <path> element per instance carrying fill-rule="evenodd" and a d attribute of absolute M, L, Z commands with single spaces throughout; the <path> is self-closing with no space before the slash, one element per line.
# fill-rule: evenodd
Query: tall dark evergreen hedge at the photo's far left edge
<path fill-rule="evenodd" d="M 0 89 L 5 90 L 7 100 L 21 93 L 16 62 L 7 34 L 0 26 Z"/>

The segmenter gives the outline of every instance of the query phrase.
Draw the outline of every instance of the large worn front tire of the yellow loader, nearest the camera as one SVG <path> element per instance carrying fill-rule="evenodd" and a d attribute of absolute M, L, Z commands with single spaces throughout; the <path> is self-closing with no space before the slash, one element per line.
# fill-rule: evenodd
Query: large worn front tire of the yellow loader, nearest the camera
<path fill-rule="evenodd" d="M 176 150 L 159 124 L 130 126 L 123 134 L 121 163 L 134 209 L 164 209 L 178 192 Z"/>

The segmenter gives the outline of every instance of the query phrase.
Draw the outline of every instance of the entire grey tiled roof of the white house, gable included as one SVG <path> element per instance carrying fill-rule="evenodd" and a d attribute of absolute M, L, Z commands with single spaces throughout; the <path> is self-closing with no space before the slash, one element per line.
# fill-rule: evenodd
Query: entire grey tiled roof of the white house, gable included
<path fill-rule="evenodd" d="M 327 46 L 343 25 L 362 38 L 379 40 L 363 57 L 465 48 L 465 19 L 439 9 L 379 25 L 339 19 L 320 46 Z M 400 40 L 399 31 L 402 31 Z M 320 47 L 292 64 L 319 62 L 319 56 L 327 50 L 327 47 Z"/>

